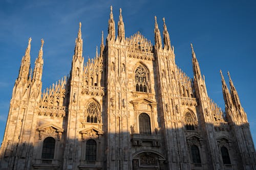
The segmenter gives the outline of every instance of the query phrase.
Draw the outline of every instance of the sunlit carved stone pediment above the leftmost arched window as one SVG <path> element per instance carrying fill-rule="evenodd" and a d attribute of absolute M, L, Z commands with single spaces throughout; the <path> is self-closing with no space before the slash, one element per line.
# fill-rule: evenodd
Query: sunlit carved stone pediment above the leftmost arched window
<path fill-rule="evenodd" d="M 42 125 L 40 127 L 37 128 L 37 130 L 39 131 L 39 140 L 41 140 L 41 136 L 45 135 L 45 136 L 56 136 L 58 140 L 61 138 L 61 135 L 63 133 L 63 129 L 53 125 L 53 124 L 47 124 L 47 125 Z"/>

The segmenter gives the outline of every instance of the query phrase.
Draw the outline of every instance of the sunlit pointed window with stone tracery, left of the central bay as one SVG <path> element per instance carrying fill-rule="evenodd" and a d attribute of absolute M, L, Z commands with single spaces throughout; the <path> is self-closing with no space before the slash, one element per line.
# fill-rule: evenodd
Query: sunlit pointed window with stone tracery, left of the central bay
<path fill-rule="evenodd" d="M 102 123 L 101 107 L 96 99 L 88 100 L 84 112 L 84 118 L 87 123 Z"/>

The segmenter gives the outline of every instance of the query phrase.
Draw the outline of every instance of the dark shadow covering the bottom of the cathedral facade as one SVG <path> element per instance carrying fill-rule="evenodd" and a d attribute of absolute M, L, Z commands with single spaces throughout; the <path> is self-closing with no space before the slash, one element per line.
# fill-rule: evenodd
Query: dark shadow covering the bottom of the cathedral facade
<path fill-rule="evenodd" d="M 212 129 L 212 134 L 205 128 Z M 151 134 L 93 130 L 79 133 L 78 139 L 67 139 L 65 131 L 60 138 L 56 133 L 40 139 L 38 132 L 33 145 L 8 144 L 1 155 L 1 169 L 253 169 L 253 143 L 248 143 L 251 149 L 241 148 L 237 129 L 246 132 L 249 125 L 206 124 L 195 130 L 184 126 Z M 215 140 L 209 141 L 210 135 Z"/>

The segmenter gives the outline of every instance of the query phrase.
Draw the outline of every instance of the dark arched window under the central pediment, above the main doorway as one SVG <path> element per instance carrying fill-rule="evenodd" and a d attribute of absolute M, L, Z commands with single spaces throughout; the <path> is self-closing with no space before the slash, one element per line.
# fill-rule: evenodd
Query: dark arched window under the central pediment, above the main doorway
<path fill-rule="evenodd" d="M 140 134 L 150 135 L 151 134 L 150 116 L 148 116 L 146 113 L 141 113 L 139 115 L 139 126 L 140 126 Z"/>

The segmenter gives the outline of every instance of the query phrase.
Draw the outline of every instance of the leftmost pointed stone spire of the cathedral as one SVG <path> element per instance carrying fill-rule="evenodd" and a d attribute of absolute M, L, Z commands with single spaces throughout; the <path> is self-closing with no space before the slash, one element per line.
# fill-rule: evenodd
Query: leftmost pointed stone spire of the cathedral
<path fill-rule="evenodd" d="M 29 78 L 31 40 L 32 39 L 29 38 L 28 47 L 26 49 L 25 55 L 22 58 L 22 63 L 20 64 L 18 79 Z"/>

